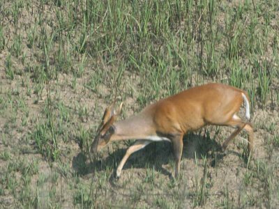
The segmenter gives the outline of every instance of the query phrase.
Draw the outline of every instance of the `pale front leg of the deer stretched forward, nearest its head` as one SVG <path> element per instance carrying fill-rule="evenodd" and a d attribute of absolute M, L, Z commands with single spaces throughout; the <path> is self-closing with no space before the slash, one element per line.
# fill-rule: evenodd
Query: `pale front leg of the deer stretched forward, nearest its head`
<path fill-rule="evenodd" d="M 123 166 L 126 163 L 126 161 L 128 160 L 128 157 L 130 157 L 130 155 L 137 152 L 138 150 L 141 150 L 142 148 L 144 148 L 146 145 L 150 144 L 151 142 L 152 141 L 149 141 L 149 140 L 137 140 L 137 141 L 135 141 L 135 144 L 133 144 L 132 146 L 130 146 L 128 148 L 128 150 L 126 151 L 126 154 L 124 155 L 124 157 L 122 158 L 119 166 L 117 167 L 116 176 L 120 177 Z"/>

